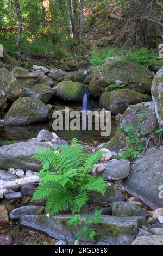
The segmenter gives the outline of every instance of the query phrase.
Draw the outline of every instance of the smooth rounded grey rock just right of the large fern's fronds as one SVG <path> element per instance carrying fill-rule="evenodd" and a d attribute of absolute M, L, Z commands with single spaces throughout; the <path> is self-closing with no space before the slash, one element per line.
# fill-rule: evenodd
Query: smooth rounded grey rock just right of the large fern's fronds
<path fill-rule="evenodd" d="M 105 163 L 105 170 L 100 175 L 106 180 L 122 180 L 130 173 L 130 162 L 128 160 L 112 159 Z"/>

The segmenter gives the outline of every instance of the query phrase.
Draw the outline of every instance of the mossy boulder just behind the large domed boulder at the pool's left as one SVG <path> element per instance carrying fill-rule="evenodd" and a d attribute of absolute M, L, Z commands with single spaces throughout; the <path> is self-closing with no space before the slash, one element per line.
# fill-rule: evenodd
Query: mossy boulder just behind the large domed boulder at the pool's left
<path fill-rule="evenodd" d="M 53 95 L 51 86 L 43 77 L 29 79 L 22 84 L 21 88 L 25 97 L 41 100 L 43 103 L 47 103 Z"/>

